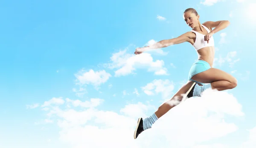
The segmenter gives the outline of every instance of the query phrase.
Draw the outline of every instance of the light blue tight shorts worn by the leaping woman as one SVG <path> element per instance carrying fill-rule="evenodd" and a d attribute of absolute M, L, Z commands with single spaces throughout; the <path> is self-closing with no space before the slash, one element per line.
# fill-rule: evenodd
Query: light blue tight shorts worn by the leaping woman
<path fill-rule="evenodd" d="M 195 83 L 198 83 L 198 84 L 201 84 L 201 85 L 204 85 L 203 83 L 201 82 L 198 82 L 198 81 L 195 81 L 195 80 L 192 80 L 192 76 L 198 74 L 198 73 L 201 73 L 205 70 L 209 70 L 211 68 L 210 64 L 207 62 L 207 61 L 204 61 L 204 60 L 197 60 L 193 65 L 192 67 L 190 68 L 189 70 L 189 80 L 190 81 L 194 81 Z"/>

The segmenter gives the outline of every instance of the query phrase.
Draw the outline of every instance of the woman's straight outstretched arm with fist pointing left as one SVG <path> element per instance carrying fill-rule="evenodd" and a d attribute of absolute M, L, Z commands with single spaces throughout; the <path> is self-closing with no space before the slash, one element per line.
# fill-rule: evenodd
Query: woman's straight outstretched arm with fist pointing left
<path fill-rule="evenodd" d="M 151 50 L 151 49 L 157 49 L 157 48 L 163 48 L 163 47 L 168 47 L 170 45 L 175 45 L 175 44 L 180 44 L 183 42 L 188 42 L 190 39 L 190 34 L 189 32 L 186 32 L 185 34 L 182 34 L 176 38 L 173 39 L 164 39 L 161 40 L 153 45 L 149 45 L 146 47 L 141 47 L 137 48 L 136 51 L 134 52 L 135 54 L 140 54 L 144 51 Z"/>

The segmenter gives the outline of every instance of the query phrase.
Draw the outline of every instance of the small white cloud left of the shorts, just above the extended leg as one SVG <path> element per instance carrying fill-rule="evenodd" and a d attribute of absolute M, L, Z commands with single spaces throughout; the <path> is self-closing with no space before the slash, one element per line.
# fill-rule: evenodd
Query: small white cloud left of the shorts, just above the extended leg
<path fill-rule="evenodd" d="M 141 87 L 143 92 L 147 95 L 155 95 L 162 93 L 163 99 L 169 99 L 174 89 L 174 84 L 169 80 L 154 80 L 148 83 L 145 87 Z"/>

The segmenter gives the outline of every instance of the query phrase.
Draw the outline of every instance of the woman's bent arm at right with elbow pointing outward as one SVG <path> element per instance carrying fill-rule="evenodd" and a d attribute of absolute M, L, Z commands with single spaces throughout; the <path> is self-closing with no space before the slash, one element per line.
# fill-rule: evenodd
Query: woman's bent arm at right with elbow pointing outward
<path fill-rule="evenodd" d="M 230 22 L 228 20 L 220 20 L 220 21 L 207 21 L 204 22 L 205 26 L 208 26 L 209 28 L 211 28 L 211 32 L 213 34 L 217 33 L 218 31 L 223 30 L 224 28 L 227 28 L 228 25 L 230 25 Z M 212 29 L 214 28 L 214 29 Z"/>

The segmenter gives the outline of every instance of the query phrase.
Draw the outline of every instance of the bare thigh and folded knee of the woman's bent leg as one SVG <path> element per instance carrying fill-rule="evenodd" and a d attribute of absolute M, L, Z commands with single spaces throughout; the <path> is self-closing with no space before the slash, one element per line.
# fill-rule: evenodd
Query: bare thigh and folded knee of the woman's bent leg
<path fill-rule="evenodd" d="M 236 78 L 216 68 L 210 68 L 198 73 L 192 76 L 192 79 L 201 83 L 211 83 L 212 89 L 217 89 L 218 91 L 233 89 L 237 86 Z"/>

